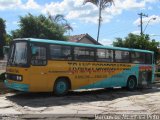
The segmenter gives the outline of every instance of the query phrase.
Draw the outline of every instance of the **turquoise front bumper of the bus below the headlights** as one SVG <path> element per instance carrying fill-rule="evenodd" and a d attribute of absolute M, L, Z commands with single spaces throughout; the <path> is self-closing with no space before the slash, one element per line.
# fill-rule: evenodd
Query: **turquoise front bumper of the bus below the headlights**
<path fill-rule="evenodd" d="M 29 91 L 29 85 L 28 84 L 9 83 L 8 80 L 5 80 L 4 84 L 5 84 L 6 87 L 11 88 L 11 89 L 24 91 L 24 92 Z"/>

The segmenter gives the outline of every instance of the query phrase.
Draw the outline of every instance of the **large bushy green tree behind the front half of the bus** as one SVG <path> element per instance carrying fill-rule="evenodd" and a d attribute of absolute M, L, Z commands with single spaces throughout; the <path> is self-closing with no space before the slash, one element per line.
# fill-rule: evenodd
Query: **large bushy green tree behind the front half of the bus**
<path fill-rule="evenodd" d="M 12 31 L 13 38 L 42 38 L 42 39 L 56 39 L 66 40 L 64 37 L 65 29 L 52 22 L 49 17 L 44 15 L 33 16 L 28 14 L 20 17 L 19 29 Z"/>

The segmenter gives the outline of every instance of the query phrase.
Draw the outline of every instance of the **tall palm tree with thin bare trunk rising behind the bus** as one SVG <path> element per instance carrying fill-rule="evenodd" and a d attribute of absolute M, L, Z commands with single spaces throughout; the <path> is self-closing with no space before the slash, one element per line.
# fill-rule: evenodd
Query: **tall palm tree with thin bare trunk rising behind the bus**
<path fill-rule="evenodd" d="M 114 2 L 113 0 L 84 0 L 84 4 L 86 4 L 87 2 L 91 2 L 97 7 L 99 7 L 98 33 L 97 33 L 97 42 L 98 42 L 101 22 L 102 22 L 102 10 L 104 10 L 109 5 L 112 5 Z"/>

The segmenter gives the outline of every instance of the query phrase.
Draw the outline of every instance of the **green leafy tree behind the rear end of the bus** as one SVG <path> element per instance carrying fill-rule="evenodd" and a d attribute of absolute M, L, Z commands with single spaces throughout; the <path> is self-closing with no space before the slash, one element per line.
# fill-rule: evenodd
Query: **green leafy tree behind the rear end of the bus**
<path fill-rule="evenodd" d="M 147 34 L 141 36 L 130 33 L 124 40 L 122 38 L 116 38 L 116 41 L 113 42 L 113 46 L 154 51 L 155 60 L 157 60 L 159 55 L 159 42 L 156 42 L 154 39 L 151 40 Z"/>

